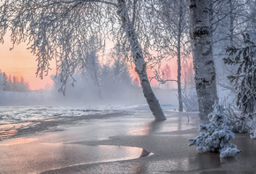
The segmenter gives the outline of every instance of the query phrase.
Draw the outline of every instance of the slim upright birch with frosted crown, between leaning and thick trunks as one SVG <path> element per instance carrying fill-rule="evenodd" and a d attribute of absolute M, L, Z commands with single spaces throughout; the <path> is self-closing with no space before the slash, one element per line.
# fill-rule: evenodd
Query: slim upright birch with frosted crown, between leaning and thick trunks
<path fill-rule="evenodd" d="M 156 2 L 156 1 L 155 1 Z M 183 112 L 181 71 L 182 58 L 190 54 L 189 45 L 189 14 L 186 0 L 159 0 L 154 3 L 153 11 L 148 18 L 157 18 L 155 44 L 162 58 L 167 60 L 177 57 L 177 98 L 179 112 Z M 156 16 L 156 17 L 155 17 Z M 156 78 L 155 78 L 156 79 Z M 156 79 L 157 80 L 157 79 Z"/>

